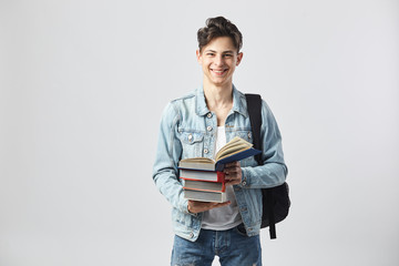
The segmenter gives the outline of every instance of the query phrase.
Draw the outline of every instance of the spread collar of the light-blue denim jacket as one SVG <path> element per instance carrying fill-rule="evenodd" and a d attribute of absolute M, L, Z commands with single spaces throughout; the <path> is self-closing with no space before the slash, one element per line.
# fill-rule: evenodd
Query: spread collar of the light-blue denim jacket
<path fill-rule="evenodd" d="M 206 115 L 209 113 L 209 110 L 206 106 L 205 95 L 204 95 L 204 86 L 200 86 L 196 92 L 196 113 L 198 115 Z M 232 112 L 237 112 L 245 117 L 248 116 L 247 106 L 245 95 L 238 91 L 235 85 L 233 84 L 233 108 Z"/>

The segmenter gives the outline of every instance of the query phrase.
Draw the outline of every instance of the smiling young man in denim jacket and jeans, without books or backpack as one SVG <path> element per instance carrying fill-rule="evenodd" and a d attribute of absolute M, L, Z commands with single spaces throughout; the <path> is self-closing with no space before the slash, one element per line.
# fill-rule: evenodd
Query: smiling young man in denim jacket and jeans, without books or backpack
<path fill-rule="evenodd" d="M 262 265 L 259 228 L 263 187 L 284 183 L 282 137 L 265 102 L 262 106 L 264 165 L 254 157 L 225 165 L 226 203 L 184 198 L 177 164 L 182 158 L 213 158 L 218 149 L 238 135 L 252 142 L 245 95 L 233 85 L 243 53 L 242 33 L 223 17 L 211 18 L 197 32 L 197 61 L 203 85 L 165 108 L 153 178 L 172 204 L 175 232 L 171 265 Z"/>

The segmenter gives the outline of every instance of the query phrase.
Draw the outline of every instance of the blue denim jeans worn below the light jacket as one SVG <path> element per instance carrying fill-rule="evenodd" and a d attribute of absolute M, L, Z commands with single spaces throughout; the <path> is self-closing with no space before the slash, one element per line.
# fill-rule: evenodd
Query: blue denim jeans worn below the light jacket
<path fill-rule="evenodd" d="M 175 235 L 171 265 L 211 266 L 215 255 L 222 266 L 262 266 L 259 235 L 248 237 L 238 227 L 228 231 L 201 229 L 196 242 Z"/>

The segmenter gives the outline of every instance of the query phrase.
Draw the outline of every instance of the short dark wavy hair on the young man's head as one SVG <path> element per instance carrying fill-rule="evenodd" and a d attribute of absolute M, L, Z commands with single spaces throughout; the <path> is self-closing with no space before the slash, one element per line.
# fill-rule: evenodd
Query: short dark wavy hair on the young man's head
<path fill-rule="evenodd" d="M 243 47 L 243 35 L 235 24 L 223 17 L 209 18 L 205 24 L 206 27 L 201 28 L 197 32 L 200 52 L 202 52 L 202 49 L 213 39 L 218 37 L 229 37 L 234 47 L 239 52 Z"/>

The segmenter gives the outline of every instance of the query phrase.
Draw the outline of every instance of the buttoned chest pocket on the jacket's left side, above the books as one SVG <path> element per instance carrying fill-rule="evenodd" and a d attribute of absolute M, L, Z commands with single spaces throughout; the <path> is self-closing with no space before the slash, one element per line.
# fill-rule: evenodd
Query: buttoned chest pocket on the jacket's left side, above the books
<path fill-rule="evenodd" d="M 204 147 L 204 134 L 198 132 L 182 132 L 180 140 L 183 146 L 182 158 L 201 157 Z"/>

